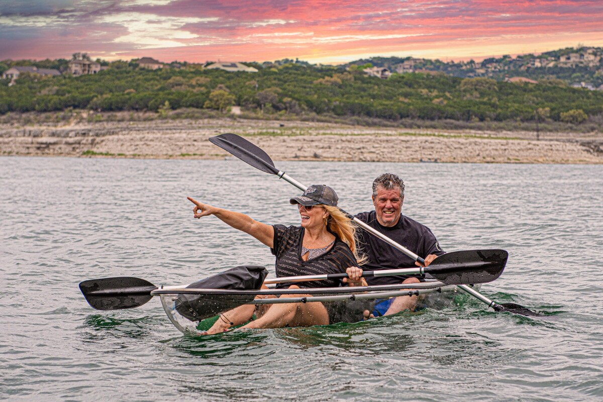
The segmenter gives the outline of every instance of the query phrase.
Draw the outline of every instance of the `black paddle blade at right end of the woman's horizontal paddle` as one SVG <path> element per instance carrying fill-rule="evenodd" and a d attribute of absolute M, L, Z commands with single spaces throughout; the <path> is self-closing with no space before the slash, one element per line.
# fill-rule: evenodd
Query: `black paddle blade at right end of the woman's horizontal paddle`
<path fill-rule="evenodd" d="M 446 284 L 476 284 L 498 278 L 507 265 L 505 250 L 452 251 L 435 259 L 425 272 Z"/>

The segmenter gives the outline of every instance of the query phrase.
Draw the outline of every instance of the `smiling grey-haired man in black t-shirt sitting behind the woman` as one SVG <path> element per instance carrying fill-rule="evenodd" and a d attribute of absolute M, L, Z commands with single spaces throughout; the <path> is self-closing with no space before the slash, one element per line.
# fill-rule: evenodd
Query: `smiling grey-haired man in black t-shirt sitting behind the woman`
<path fill-rule="evenodd" d="M 391 173 L 380 175 L 373 181 L 374 211 L 361 212 L 356 215 L 356 218 L 418 256 L 425 256 L 425 264 L 429 265 L 436 257 L 444 254 L 444 251 L 428 227 L 402 215 L 404 187 L 403 181 L 397 175 Z M 362 248 L 368 257 L 368 261 L 362 265 L 362 269 L 365 271 L 420 266 L 418 262 L 406 256 L 402 251 L 362 228 L 359 228 L 359 248 Z M 347 270 L 350 275 L 350 284 L 359 279 L 362 269 L 351 267 Z M 408 275 L 368 277 L 366 280 L 370 285 L 420 282 L 420 278 Z M 412 311 L 416 306 L 417 296 L 390 298 L 377 303 L 373 314 L 390 315 L 403 310 Z"/>

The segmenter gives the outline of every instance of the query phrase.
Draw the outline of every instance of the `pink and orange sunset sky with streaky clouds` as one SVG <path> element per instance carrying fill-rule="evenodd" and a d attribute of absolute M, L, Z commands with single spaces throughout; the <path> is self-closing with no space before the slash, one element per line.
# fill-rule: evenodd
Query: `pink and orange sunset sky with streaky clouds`
<path fill-rule="evenodd" d="M 603 46 L 603 0 L 0 0 L 0 60 L 473 60 Z"/>

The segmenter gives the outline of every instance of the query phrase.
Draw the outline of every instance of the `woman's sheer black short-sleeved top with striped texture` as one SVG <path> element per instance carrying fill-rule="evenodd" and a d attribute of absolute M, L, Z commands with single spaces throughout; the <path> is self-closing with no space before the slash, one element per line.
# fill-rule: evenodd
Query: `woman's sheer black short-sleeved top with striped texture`
<path fill-rule="evenodd" d="M 301 259 L 301 243 L 304 228 L 273 225 L 274 245 L 271 248 L 276 256 L 276 276 L 292 277 L 299 275 L 340 274 L 350 266 L 358 266 L 354 254 L 339 237 L 335 244 L 322 256 L 308 261 Z M 295 283 L 299 287 L 333 287 L 342 284 L 341 280 L 321 280 Z M 291 283 L 281 283 L 277 287 L 288 287 Z"/>

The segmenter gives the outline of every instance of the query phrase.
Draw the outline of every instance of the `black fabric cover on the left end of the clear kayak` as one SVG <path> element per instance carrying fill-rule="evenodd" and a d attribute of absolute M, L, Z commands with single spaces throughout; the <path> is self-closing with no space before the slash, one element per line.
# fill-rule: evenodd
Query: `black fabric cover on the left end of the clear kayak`
<path fill-rule="evenodd" d="M 268 271 L 263 266 L 243 265 L 189 284 L 190 289 L 257 290 L 264 283 Z M 174 308 L 190 321 L 215 316 L 253 300 L 255 295 L 189 295 L 179 294 Z"/>

